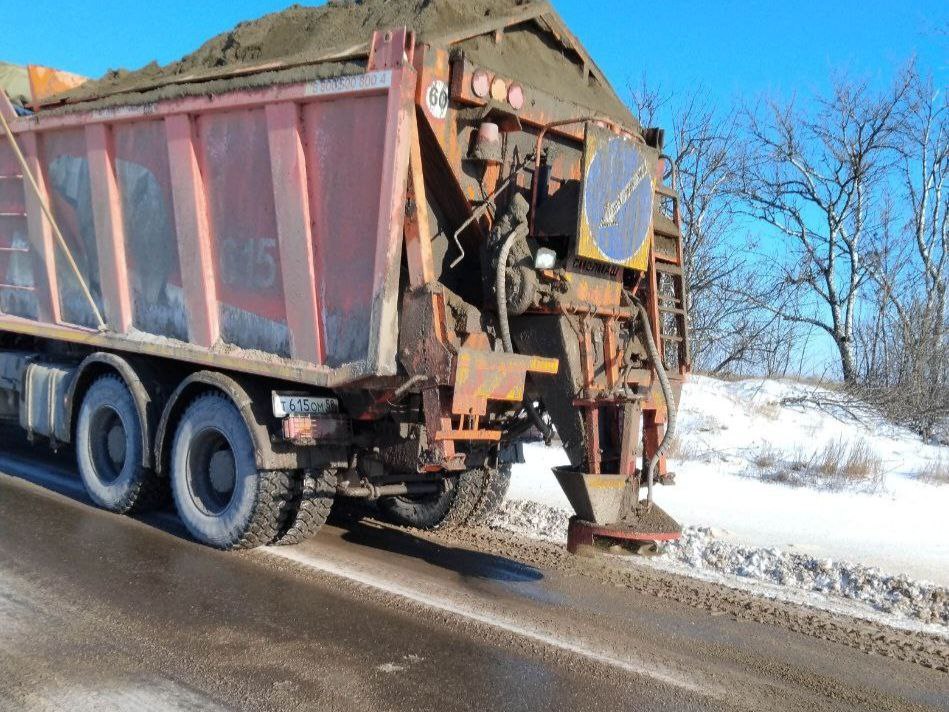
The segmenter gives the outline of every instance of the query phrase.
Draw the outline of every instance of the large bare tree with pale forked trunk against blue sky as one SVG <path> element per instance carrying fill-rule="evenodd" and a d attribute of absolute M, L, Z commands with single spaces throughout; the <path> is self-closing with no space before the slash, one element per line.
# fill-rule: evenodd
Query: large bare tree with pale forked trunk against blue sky
<path fill-rule="evenodd" d="M 833 339 L 845 381 L 857 380 L 855 328 L 868 275 L 868 234 L 899 128 L 908 76 L 875 94 L 838 81 L 812 110 L 767 102 L 743 112 L 746 150 L 738 171 L 741 210 L 769 226 L 779 242 L 764 251 L 772 265 L 767 297 L 746 290 L 759 308 L 816 327 Z"/>

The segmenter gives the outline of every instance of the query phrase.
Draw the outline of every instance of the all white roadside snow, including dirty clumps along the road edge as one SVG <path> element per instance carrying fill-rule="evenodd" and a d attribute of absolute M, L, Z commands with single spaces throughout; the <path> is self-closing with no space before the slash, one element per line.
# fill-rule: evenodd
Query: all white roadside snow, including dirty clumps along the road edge
<path fill-rule="evenodd" d="M 702 376 L 677 440 L 677 484 L 656 501 L 686 529 L 651 565 L 949 626 L 949 484 L 922 476 L 949 448 L 813 386 Z M 566 455 L 525 455 L 496 523 L 563 541 L 570 506 L 550 468 Z"/>

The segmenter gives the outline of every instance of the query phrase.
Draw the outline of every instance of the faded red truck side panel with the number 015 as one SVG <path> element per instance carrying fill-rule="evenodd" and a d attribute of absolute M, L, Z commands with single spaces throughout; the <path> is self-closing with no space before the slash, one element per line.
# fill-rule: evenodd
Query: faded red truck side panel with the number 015
<path fill-rule="evenodd" d="M 221 340 L 290 356 L 264 109 L 207 114 L 197 128 Z"/>

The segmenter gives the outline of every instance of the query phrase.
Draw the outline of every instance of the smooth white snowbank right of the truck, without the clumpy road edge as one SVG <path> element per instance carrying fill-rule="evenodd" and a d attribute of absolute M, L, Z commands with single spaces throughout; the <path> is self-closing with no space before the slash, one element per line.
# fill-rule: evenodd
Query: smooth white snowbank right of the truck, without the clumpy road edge
<path fill-rule="evenodd" d="M 682 401 L 679 458 L 670 462 L 678 485 L 657 494 L 680 521 L 718 528 L 736 544 L 790 548 L 949 587 L 949 487 L 919 477 L 929 463 L 946 461 L 949 448 L 797 383 L 696 376 Z M 875 455 L 879 476 L 781 481 L 836 443 Z"/>

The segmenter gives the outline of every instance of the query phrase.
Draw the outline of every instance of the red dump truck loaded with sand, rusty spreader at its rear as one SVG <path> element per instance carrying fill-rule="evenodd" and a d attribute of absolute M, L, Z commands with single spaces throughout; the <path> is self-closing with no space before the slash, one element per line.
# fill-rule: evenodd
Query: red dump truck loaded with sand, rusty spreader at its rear
<path fill-rule="evenodd" d="M 72 444 L 96 504 L 170 492 L 219 548 L 299 542 L 341 498 L 471 525 L 540 433 L 572 550 L 678 536 L 652 503 L 689 370 L 663 133 L 546 2 L 417 4 L 0 96 L 0 417 Z"/>

